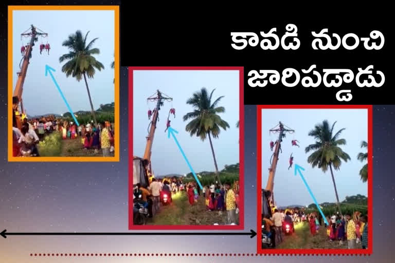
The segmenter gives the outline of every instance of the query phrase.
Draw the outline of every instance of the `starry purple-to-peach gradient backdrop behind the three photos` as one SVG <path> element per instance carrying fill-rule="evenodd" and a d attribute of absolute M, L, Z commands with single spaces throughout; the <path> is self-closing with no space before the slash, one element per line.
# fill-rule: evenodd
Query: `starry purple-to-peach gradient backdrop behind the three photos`
<path fill-rule="evenodd" d="M 29 1 L 12 4 L 37 4 Z M 44 3 L 41 3 L 44 4 Z M 47 1 L 48 5 L 86 4 Z M 119 1 L 95 4 L 115 5 Z M 128 70 L 121 67 L 120 162 L 8 163 L 7 161 L 7 6 L 0 13 L 0 231 L 128 231 Z M 152 65 L 155 66 L 155 65 Z M 389 262 L 394 257 L 395 106 L 373 108 L 373 254 L 371 256 L 139 257 L 166 262 Z M 245 106 L 245 230 L 256 227 L 256 106 Z M 130 262 L 136 257 L 54 258 L 30 253 L 255 253 L 248 236 L 9 236 L 0 238 L 1 262 Z"/>

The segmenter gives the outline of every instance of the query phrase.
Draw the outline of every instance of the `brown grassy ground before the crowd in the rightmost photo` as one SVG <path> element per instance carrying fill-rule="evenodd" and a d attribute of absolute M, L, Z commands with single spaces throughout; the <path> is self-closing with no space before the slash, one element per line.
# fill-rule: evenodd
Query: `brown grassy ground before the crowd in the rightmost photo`
<path fill-rule="evenodd" d="M 309 224 L 303 222 L 295 226 L 295 233 L 284 237 L 284 241 L 276 246 L 277 249 L 347 249 L 347 240 L 343 245 L 339 241 L 330 241 L 326 229 L 321 226 L 318 234 L 312 236 Z M 362 249 L 361 243 L 356 249 Z"/>

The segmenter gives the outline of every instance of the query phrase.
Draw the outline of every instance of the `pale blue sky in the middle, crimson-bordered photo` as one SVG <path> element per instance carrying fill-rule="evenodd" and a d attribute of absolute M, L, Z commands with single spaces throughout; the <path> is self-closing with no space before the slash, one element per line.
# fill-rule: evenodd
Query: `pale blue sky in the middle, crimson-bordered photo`
<path fill-rule="evenodd" d="M 175 108 L 175 119 L 170 118 L 171 126 L 179 133 L 176 135 L 179 144 L 189 159 L 196 173 L 214 171 L 214 162 L 208 139 L 202 142 L 191 137 L 186 131 L 182 117 L 193 108 L 186 101 L 195 91 L 206 87 L 209 92 L 216 88 L 213 98 L 225 96 L 219 105 L 226 111 L 222 119 L 229 123 L 230 128 L 221 132 L 219 139 L 213 139 L 218 168 L 225 164 L 239 162 L 239 72 L 235 70 L 152 70 L 134 71 L 133 74 L 133 154 L 142 156 L 146 147 L 147 128 L 150 123 L 147 111 L 153 109 L 155 103 L 147 103 L 147 98 L 159 89 L 173 102 L 165 102 L 159 111 L 155 138 L 152 147 L 152 165 L 156 176 L 166 174 L 187 174 L 189 168 L 179 152 L 173 139 L 167 138 L 166 120 L 171 107 Z"/>

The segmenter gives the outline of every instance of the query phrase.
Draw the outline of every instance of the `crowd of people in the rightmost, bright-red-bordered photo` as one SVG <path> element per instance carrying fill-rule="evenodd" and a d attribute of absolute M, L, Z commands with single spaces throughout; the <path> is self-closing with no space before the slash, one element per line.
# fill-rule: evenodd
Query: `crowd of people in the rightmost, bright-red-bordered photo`
<path fill-rule="evenodd" d="M 355 249 L 357 243 L 361 243 L 362 248 L 367 249 L 368 228 L 366 215 L 355 212 L 353 216 L 350 214 L 342 216 L 337 212 L 336 215 L 327 217 L 328 225 L 322 221 L 321 214 L 317 212 L 306 214 L 304 209 L 275 209 L 272 216 L 263 215 L 262 233 L 272 237 L 272 246 L 275 248 L 276 245 L 279 245 L 284 240 L 285 224 L 289 224 L 291 231 L 294 232 L 296 224 L 306 222 L 309 224 L 312 236 L 317 235 L 320 227 L 324 224 L 329 241 L 338 241 L 339 246 L 342 246 L 347 240 L 348 249 Z"/>

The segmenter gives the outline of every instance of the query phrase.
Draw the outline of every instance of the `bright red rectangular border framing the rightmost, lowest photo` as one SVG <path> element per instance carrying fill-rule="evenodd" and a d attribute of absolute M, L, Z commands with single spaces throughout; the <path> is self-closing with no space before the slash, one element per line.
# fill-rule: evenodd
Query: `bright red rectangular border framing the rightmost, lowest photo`
<path fill-rule="evenodd" d="M 367 109 L 368 126 L 368 248 L 367 249 L 262 249 L 262 111 L 264 109 Z M 322 254 L 322 255 L 370 255 L 373 241 L 373 106 L 372 105 L 257 105 L 257 253 L 258 254 Z M 313 200 L 312 200 L 313 202 Z M 347 241 L 346 241 L 347 242 Z"/>

